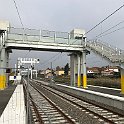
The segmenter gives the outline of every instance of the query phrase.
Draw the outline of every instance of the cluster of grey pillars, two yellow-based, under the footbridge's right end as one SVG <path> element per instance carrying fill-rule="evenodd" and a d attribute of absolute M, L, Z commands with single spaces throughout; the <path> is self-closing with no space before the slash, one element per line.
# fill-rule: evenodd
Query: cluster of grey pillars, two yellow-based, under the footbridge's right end
<path fill-rule="evenodd" d="M 85 50 L 82 53 L 70 54 L 71 86 L 87 87 L 86 55 Z"/>

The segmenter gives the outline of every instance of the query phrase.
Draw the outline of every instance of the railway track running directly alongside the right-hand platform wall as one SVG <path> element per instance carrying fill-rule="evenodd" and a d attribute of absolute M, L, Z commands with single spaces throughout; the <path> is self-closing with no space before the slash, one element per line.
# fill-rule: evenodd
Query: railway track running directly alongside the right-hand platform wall
<path fill-rule="evenodd" d="M 39 82 L 37 83 L 35 82 L 35 85 L 40 86 L 40 88 L 42 87 L 42 90 L 44 90 L 44 92 L 47 92 L 47 94 L 54 94 L 54 96 L 60 97 L 61 99 L 70 102 L 71 104 L 73 104 L 73 106 L 76 106 L 77 109 L 82 110 L 84 113 L 88 114 L 91 118 L 97 119 L 99 121 L 97 123 L 124 124 L 124 117 L 117 113 L 84 102 L 78 98 L 67 95 L 50 87 L 46 87 Z M 79 116 L 74 117 L 73 114 L 70 115 L 73 118 L 75 118 L 79 123 L 83 123 L 82 121 L 80 121 Z"/>

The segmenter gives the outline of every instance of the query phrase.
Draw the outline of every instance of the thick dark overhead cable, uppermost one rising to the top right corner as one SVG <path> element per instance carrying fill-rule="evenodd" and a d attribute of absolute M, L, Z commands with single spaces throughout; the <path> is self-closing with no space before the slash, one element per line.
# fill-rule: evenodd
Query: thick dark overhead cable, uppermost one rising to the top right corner
<path fill-rule="evenodd" d="M 98 24 L 96 24 L 93 28 L 91 28 L 89 31 L 87 31 L 85 34 L 88 34 L 89 32 L 91 32 L 93 29 L 95 29 L 97 26 L 99 26 L 101 23 L 103 23 L 104 21 L 106 21 L 109 17 L 111 17 L 112 15 L 114 15 L 117 11 L 119 11 L 121 8 L 124 7 L 124 4 L 122 6 L 120 6 L 118 9 L 116 9 L 114 12 L 112 12 L 110 15 L 108 15 L 105 19 L 103 19 L 102 21 L 100 21 Z M 84 35 L 85 35 L 84 34 Z"/>

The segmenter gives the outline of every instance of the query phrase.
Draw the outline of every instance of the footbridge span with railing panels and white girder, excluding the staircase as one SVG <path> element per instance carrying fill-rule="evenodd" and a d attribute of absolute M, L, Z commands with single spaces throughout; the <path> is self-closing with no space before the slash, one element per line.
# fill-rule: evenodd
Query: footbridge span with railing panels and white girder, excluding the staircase
<path fill-rule="evenodd" d="M 5 45 L 10 49 L 45 51 L 83 51 L 81 39 L 71 38 L 67 32 L 9 28 Z"/>

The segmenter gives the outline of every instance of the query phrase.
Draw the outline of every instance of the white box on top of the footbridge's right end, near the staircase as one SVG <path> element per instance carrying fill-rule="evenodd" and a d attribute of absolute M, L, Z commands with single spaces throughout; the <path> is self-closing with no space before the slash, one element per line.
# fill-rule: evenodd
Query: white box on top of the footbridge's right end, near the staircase
<path fill-rule="evenodd" d="M 85 30 L 82 30 L 82 29 L 73 29 L 70 32 L 70 38 L 71 39 L 82 39 L 82 37 L 85 37 Z"/>

